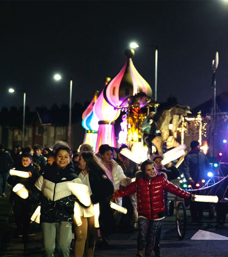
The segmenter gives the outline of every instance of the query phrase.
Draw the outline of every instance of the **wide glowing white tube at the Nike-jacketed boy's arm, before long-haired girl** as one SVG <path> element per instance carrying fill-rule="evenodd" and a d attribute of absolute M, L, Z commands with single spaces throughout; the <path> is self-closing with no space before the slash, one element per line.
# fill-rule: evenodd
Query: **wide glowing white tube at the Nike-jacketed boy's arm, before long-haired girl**
<path fill-rule="evenodd" d="M 87 207 L 91 205 L 89 188 L 87 185 L 69 182 L 67 183 L 67 186 L 72 194 L 75 195 L 82 204 Z"/>

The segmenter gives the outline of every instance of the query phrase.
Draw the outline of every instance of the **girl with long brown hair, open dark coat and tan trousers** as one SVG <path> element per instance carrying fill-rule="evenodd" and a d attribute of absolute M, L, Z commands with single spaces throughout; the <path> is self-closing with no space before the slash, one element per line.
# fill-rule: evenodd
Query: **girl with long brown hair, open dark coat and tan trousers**
<path fill-rule="evenodd" d="M 82 225 L 75 227 L 75 256 L 93 256 L 96 229 L 94 227 L 93 205 L 99 203 L 99 225 L 103 237 L 116 230 L 112 209 L 107 198 L 114 192 L 112 181 L 105 174 L 105 167 L 92 152 L 82 152 L 79 158 L 77 173 L 82 183 L 89 187 L 91 206 L 87 209 L 80 207 Z"/>

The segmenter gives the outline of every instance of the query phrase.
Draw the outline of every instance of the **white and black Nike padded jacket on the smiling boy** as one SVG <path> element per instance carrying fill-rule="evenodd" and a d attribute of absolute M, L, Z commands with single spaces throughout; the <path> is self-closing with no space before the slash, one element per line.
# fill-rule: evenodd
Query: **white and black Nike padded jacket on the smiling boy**
<path fill-rule="evenodd" d="M 45 172 L 37 179 L 30 200 L 37 201 L 40 198 L 41 222 L 73 222 L 74 203 L 77 198 L 67 187 L 68 182 L 82 183 L 74 173 L 71 162 L 65 169 L 58 168 L 53 162 L 52 166 L 46 166 Z"/>

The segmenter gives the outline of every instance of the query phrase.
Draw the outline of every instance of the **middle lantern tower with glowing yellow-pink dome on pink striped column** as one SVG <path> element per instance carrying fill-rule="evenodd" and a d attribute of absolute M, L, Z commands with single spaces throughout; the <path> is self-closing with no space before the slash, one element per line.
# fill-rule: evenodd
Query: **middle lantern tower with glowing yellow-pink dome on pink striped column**
<path fill-rule="evenodd" d="M 105 79 L 105 85 L 108 84 L 110 78 Z M 95 152 L 98 152 L 100 145 L 108 144 L 116 147 L 116 137 L 113 122 L 119 117 L 120 110 L 114 109 L 112 105 L 106 102 L 104 98 L 104 89 L 94 103 L 93 112 L 100 120 L 98 122 L 98 137 Z"/>

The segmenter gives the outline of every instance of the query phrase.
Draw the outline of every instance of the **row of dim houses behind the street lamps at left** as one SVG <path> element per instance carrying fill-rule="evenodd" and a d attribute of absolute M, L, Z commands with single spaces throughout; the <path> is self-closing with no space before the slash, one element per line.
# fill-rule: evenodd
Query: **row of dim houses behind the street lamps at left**
<path fill-rule="evenodd" d="M 69 112 L 65 110 L 41 110 L 25 114 L 24 145 L 52 148 L 61 140 L 68 141 L 67 131 L 69 123 Z M 73 113 L 72 113 L 73 114 Z M 22 146 L 22 111 L 0 113 L 0 141 L 8 149 Z M 83 143 L 85 130 L 81 126 L 81 115 L 72 118 L 71 148 L 77 150 Z"/>

